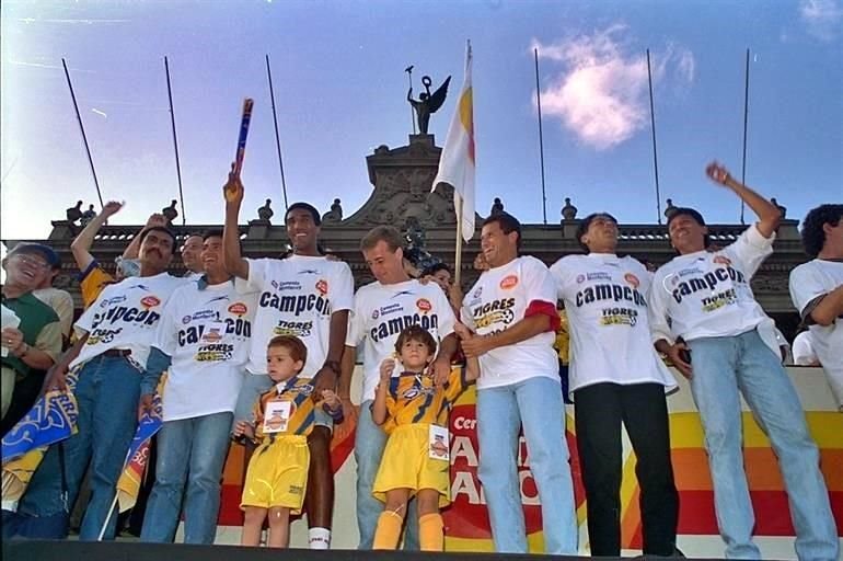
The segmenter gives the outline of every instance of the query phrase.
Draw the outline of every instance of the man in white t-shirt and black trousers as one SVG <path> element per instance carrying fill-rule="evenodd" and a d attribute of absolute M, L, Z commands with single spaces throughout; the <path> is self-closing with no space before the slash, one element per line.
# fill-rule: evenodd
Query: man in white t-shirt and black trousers
<path fill-rule="evenodd" d="M 621 554 L 621 424 L 638 460 L 645 556 L 672 556 L 679 494 L 670 461 L 665 394 L 677 382 L 650 344 L 650 273 L 619 257 L 617 220 L 587 216 L 577 228 L 586 255 L 551 267 L 570 325 L 570 390 L 592 556 Z"/>

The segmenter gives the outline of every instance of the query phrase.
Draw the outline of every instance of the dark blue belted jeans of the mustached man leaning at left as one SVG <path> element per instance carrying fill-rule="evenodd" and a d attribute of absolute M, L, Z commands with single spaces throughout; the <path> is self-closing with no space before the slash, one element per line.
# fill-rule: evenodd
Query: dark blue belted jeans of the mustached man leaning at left
<path fill-rule="evenodd" d="M 72 506 L 91 462 L 91 502 L 82 518 L 80 540 L 96 540 L 108 518 L 117 479 L 138 424 L 140 376 L 125 357 L 103 355 L 85 363 L 79 373 L 79 432 L 65 440 L 65 473 L 68 504 Z M 21 501 L 23 512 L 47 515 L 63 508 L 60 492 L 56 494 L 61 482 L 57 447 L 53 446 L 47 454 L 49 458 L 36 470 Z M 116 525 L 115 514 L 108 518 L 105 539 L 114 538 Z"/>

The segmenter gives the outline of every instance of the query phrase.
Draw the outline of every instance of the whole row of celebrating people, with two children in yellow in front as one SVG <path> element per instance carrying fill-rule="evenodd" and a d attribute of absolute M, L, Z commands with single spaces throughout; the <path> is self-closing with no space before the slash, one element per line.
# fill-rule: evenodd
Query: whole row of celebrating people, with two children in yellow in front
<path fill-rule="evenodd" d="M 690 380 L 700 411 L 726 556 L 760 558 L 741 456 L 742 394 L 776 453 L 798 558 L 838 559 L 818 448 L 782 366 L 773 321 L 750 287 L 773 252 L 781 211 L 719 164 L 706 173 L 758 216 L 734 243 L 712 247 L 703 216 L 675 208 L 668 232 L 678 254 L 653 273 L 617 254 L 617 220 L 594 213 L 576 233 L 584 253 L 547 267 L 521 254 L 520 224 L 501 211 L 483 224 L 475 266 L 484 271 L 464 295 L 444 265 L 412 277 L 402 236 L 390 226 L 360 241 L 376 280 L 355 293 L 349 266 L 321 251 L 320 214 L 307 203 L 285 216 L 291 254 L 243 257 L 244 188 L 233 171 L 223 187 L 223 228 L 183 242 L 184 277 L 166 272 L 178 244 L 164 217 L 153 215 L 127 247 L 116 278 L 90 249 L 122 205 L 108 203 L 90 219 L 71 245 L 85 305 L 72 334 L 72 301 L 50 289 L 56 252 L 13 248 L 3 261 L 4 431 L 44 389 L 65 389 L 69 379 L 79 417 L 78 432 L 44 456 L 16 512 L 4 502 L 4 536 L 32 536 L 37 526 L 42 536 L 62 537 L 79 500 L 80 539 L 113 538 L 115 485 L 158 388 L 163 424 L 141 540 L 172 542 L 183 516 L 185 542 L 213 542 L 233 443 L 246 450 L 242 543 L 258 545 L 266 524 L 267 545 L 287 546 L 290 516 L 305 511 L 310 547 L 327 549 L 330 440 L 345 419 L 356 424 L 359 547 L 394 549 L 403 534 L 406 549 L 440 551 L 440 510 L 450 502 L 448 413 L 475 383 L 478 477 L 497 551 L 528 549 L 517 473 L 521 431 L 545 551 L 578 551 L 565 438 L 571 398 L 591 554 L 621 553 L 624 426 L 637 456 L 644 553 L 681 557 L 667 407 L 677 381 L 667 358 Z M 843 411 L 841 218 L 840 204 L 808 214 L 802 239 L 812 261 L 792 272 L 790 294 Z M 570 363 L 565 383 L 554 350 L 559 301 L 570 337 L 559 350 Z M 350 401 L 358 348 L 359 407 Z M 89 465 L 90 491 L 80 497 Z"/>

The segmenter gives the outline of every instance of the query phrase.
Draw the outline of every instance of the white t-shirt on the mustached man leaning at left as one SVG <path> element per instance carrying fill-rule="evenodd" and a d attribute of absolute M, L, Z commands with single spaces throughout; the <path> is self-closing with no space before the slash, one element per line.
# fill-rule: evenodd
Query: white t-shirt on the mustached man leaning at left
<path fill-rule="evenodd" d="M 129 360 L 145 368 L 166 304 L 173 291 L 186 283 L 189 280 L 161 273 L 106 286 L 76 322 L 77 335 L 89 333 L 89 337 L 70 367 L 108 350 L 124 348 L 131 351 Z"/>

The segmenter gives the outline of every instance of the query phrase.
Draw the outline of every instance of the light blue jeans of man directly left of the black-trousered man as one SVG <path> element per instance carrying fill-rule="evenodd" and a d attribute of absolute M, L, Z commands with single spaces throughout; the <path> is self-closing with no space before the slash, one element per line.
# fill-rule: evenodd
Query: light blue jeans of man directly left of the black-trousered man
<path fill-rule="evenodd" d="M 521 426 L 542 504 L 545 552 L 576 554 L 577 517 L 562 390 L 558 379 L 544 377 L 477 391 L 477 476 L 486 495 L 495 550 L 527 552 L 516 469 Z"/>

